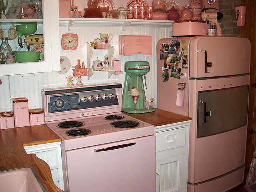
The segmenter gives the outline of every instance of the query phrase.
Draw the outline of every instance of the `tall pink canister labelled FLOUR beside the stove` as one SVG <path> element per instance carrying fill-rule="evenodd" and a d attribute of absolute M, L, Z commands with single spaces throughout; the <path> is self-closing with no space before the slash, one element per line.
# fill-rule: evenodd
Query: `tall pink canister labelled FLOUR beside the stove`
<path fill-rule="evenodd" d="M 26 97 L 12 98 L 15 127 L 30 126 L 28 114 L 28 99 Z"/>

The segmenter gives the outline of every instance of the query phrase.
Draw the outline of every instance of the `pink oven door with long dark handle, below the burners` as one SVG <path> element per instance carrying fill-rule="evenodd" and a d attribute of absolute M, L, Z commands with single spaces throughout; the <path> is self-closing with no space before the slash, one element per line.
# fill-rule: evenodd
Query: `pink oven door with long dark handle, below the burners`
<path fill-rule="evenodd" d="M 66 151 L 69 192 L 154 192 L 155 136 Z"/>

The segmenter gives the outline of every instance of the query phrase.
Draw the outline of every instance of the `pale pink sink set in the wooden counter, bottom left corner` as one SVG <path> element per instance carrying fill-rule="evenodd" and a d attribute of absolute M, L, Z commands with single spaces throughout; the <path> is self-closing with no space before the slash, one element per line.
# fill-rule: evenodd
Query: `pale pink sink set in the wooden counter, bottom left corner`
<path fill-rule="evenodd" d="M 0 191 L 47 192 L 32 167 L 22 167 L 0 172 Z"/>

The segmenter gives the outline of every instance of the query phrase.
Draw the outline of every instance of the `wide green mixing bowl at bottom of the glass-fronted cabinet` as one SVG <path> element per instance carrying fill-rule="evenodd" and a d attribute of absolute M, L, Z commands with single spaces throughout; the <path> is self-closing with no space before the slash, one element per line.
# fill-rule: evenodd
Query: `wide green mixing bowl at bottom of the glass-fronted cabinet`
<path fill-rule="evenodd" d="M 16 56 L 16 62 L 37 62 L 40 60 L 40 52 L 33 51 L 13 51 L 13 54 Z"/>

